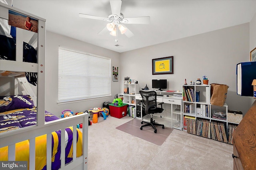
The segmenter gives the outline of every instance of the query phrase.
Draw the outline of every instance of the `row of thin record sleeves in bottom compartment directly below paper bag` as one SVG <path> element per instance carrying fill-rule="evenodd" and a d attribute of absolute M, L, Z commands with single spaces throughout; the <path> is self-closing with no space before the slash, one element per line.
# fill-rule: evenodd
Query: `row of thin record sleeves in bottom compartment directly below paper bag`
<path fill-rule="evenodd" d="M 228 143 L 224 123 L 212 121 L 211 122 L 212 139 Z"/>

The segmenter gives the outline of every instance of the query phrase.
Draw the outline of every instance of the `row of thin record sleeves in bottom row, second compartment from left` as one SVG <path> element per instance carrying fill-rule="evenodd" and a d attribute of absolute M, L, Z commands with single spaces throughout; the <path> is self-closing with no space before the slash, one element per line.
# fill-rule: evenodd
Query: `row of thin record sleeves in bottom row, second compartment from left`
<path fill-rule="evenodd" d="M 196 135 L 211 138 L 210 121 L 206 119 L 197 119 L 196 121 Z"/>

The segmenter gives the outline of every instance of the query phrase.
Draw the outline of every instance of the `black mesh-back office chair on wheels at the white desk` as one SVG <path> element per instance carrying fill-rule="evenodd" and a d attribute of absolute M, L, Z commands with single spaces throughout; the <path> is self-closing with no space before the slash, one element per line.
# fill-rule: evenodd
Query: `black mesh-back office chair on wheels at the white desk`
<path fill-rule="evenodd" d="M 142 127 L 152 126 L 155 129 L 154 133 L 156 133 L 157 130 L 155 125 L 162 126 L 162 129 L 164 129 L 164 125 L 155 123 L 155 121 L 153 121 L 153 118 L 152 118 L 152 114 L 162 113 L 162 111 L 164 111 L 162 107 L 162 104 L 164 104 L 164 102 L 161 102 L 158 104 L 158 105 L 161 105 L 161 108 L 157 107 L 155 91 L 140 90 L 140 95 L 142 97 L 142 111 L 145 111 L 146 114 L 150 115 L 150 122 L 142 120 L 141 124 L 146 123 L 146 125 L 142 125 L 140 127 L 140 130 L 142 130 Z"/>

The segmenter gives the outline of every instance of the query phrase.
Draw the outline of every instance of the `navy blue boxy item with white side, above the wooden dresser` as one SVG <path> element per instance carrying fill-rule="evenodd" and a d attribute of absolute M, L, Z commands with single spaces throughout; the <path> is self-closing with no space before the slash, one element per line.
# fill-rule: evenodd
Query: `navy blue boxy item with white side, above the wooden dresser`
<path fill-rule="evenodd" d="M 236 64 L 236 93 L 238 95 L 253 96 L 253 79 L 256 79 L 256 61 Z"/>

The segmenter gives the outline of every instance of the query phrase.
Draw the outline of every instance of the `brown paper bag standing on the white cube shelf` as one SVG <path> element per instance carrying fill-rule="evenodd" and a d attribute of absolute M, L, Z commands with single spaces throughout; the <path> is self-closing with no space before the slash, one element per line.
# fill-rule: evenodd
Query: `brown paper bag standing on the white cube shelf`
<path fill-rule="evenodd" d="M 228 93 L 228 86 L 226 84 L 211 84 L 211 104 L 216 106 L 223 106 Z"/>

